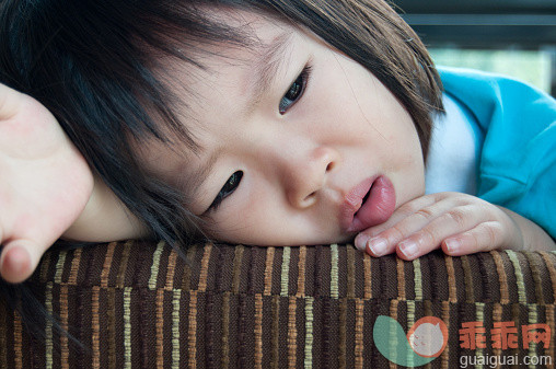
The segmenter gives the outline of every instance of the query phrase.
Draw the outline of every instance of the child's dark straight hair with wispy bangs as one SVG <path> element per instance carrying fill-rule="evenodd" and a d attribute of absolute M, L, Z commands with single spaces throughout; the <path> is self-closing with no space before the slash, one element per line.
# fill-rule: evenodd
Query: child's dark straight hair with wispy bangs
<path fill-rule="evenodd" d="M 202 68 L 201 45 L 246 45 L 243 30 L 208 9 L 302 25 L 364 66 L 413 117 L 425 157 L 431 112 L 441 109 L 425 46 L 382 0 L 3 0 L 0 7 L 0 82 L 45 105 L 152 237 L 174 246 L 200 234 L 199 219 L 186 195 L 141 168 L 131 142 L 177 138 L 197 149 L 175 113 L 186 102 L 159 78 L 158 60 Z"/>

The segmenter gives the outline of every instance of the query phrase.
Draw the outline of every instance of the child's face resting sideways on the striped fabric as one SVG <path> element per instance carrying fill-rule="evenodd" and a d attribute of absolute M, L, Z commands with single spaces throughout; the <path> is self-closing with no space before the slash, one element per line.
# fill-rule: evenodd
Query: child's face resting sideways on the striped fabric
<path fill-rule="evenodd" d="M 173 66 L 201 150 L 152 143 L 142 151 L 151 171 L 193 195 L 190 209 L 208 220 L 210 237 L 345 242 L 422 195 L 414 123 L 372 73 L 286 24 L 245 13 L 230 22 L 248 23 L 260 46 L 217 47 L 201 58 L 207 70 Z"/>

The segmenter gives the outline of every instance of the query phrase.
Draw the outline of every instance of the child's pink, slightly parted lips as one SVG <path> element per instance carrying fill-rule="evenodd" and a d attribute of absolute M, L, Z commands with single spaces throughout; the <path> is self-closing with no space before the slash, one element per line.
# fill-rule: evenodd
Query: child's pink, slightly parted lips
<path fill-rule="evenodd" d="M 367 178 L 345 197 L 341 223 L 347 232 L 360 232 L 385 222 L 394 212 L 396 194 L 384 175 Z"/>

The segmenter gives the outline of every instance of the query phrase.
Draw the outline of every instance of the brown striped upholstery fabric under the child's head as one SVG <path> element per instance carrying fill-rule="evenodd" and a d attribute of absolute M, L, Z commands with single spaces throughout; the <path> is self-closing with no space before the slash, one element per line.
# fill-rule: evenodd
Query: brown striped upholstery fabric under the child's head
<path fill-rule="evenodd" d="M 404 262 L 351 245 L 207 244 L 181 257 L 163 243 L 120 242 L 53 250 L 30 286 L 82 346 L 48 321 L 44 341 L 31 337 L 2 302 L 1 368 L 397 368 L 374 345 L 379 315 L 406 333 L 422 316 L 445 323 L 448 345 L 427 368 L 457 368 L 461 356 L 555 358 L 549 252 Z M 475 321 L 487 345 L 463 348 L 462 324 Z M 509 321 L 519 346 L 493 347 L 490 330 Z M 552 330 L 547 347 L 523 345 L 522 326 L 536 323 Z"/>

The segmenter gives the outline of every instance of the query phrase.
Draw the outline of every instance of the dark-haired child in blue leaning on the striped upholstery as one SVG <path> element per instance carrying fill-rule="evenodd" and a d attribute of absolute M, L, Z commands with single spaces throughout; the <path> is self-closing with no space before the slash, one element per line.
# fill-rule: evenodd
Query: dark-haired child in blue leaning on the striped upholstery
<path fill-rule="evenodd" d="M 8 281 L 58 237 L 555 249 L 555 101 L 454 70 L 442 95 L 382 1 L 11 0 L 0 25 L 28 95 L 0 90 Z"/>

